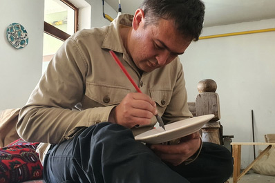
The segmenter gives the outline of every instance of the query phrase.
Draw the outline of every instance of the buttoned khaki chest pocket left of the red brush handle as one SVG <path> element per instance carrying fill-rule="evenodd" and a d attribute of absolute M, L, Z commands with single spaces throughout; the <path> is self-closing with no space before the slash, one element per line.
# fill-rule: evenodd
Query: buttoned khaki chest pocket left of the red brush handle
<path fill-rule="evenodd" d="M 122 86 L 87 83 L 85 95 L 89 99 L 96 102 L 98 106 L 112 106 L 112 105 L 120 104 L 122 99 L 128 93 L 130 93 L 130 89 L 124 88 Z M 90 107 L 95 107 L 95 106 L 93 105 Z"/>

